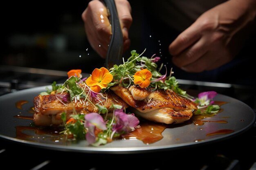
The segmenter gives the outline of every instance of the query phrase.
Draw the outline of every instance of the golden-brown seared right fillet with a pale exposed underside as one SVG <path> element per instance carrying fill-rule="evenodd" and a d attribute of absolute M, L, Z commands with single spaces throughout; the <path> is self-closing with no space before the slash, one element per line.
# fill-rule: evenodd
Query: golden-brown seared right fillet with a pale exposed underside
<path fill-rule="evenodd" d="M 173 91 L 140 88 L 133 85 L 129 88 L 115 86 L 111 88 L 132 108 L 135 114 L 159 123 L 179 124 L 189 120 L 197 105 Z"/>

